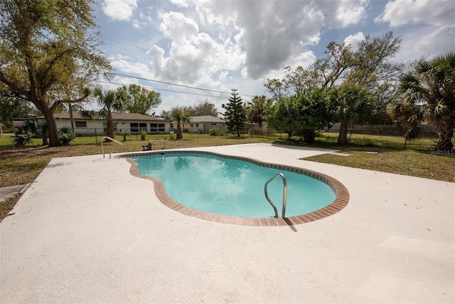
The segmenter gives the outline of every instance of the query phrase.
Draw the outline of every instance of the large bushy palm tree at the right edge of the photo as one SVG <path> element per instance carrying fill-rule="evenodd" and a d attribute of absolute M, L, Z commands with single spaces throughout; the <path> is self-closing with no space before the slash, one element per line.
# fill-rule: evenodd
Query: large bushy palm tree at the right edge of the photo
<path fill-rule="evenodd" d="M 431 61 L 420 60 L 414 72 L 402 76 L 400 81 L 403 108 L 401 120 L 419 117 L 419 122 L 433 122 L 438 130 L 437 151 L 451 151 L 451 137 L 455 128 L 455 52 L 438 56 Z"/>

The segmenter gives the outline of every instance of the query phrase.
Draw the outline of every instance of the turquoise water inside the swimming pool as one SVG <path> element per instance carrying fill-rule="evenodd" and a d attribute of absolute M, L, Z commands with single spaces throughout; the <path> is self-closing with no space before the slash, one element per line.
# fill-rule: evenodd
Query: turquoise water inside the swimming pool
<path fill-rule="evenodd" d="M 264 184 L 278 172 L 287 179 L 287 217 L 316 211 L 336 198 L 330 187 L 317 179 L 239 159 L 191 152 L 151 154 L 131 159 L 137 162 L 140 174 L 161 179 L 174 201 L 215 214 L 273 217 L 272 206 L 264 196 Z M 281 178 L 269 184 L 268 194 L 281 216 Z"/>

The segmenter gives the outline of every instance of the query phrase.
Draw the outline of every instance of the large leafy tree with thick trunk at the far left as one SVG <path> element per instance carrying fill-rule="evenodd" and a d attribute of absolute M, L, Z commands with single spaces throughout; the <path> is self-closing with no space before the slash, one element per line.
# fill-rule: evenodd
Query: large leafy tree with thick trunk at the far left
<path fill-rule="evenodd" d="M 92 0 L 2 0 L 0 81 L 43 113 L 49 145 L 60 145 L 53 113 L 90 95 L 90 82 L 109 70 Z"/>

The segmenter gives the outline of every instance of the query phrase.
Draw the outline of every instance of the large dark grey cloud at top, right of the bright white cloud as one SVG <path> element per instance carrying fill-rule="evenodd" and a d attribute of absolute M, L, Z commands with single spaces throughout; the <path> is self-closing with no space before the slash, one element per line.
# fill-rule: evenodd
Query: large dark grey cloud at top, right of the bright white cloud
<path fill-rule="evenodd" d="M 319 42 L 323 13 L 303 1 L 197 1 L 205 25 L 216 24 L 226 41 L 240 44 L 245 72 L 261 78 Z"/>

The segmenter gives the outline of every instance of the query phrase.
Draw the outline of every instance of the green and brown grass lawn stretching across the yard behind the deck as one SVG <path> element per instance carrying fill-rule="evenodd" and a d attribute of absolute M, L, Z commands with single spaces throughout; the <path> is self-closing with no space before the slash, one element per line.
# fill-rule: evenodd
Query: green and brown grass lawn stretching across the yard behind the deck
<path fill-rule="evenodd" d="M 174 135 L 175 136 L 175 135 Z M 348 145 L 337 145 L 338 134 L 321 133 L 316 137 L 316 142 L 306 145 L 297 138 L 287 139 L 286 135 L 267 135 L 264 137 L 250 137 L 244 135 L 237 137 L 216 137 L 210 135 L 188 134 L 183 135 L 183 140 L 170 139 L 169 135 L 148 135 L 146 140 L 140 136 L 130 135 L 123 142 L 122 136 L 115 139 L 122 142 L 122 152 L 137 152 L 147 145 L 148 140 L 166 140 L 165 148 L 204 147 L 220 145 L 237 145 L 254 142 L 269 142 L 282 145 L 301 145 L 305 147 L 321 147 L 338 150 L 349 156 L 323 154 L 308 157 L 306 160 L 339 164 L 342 166 L 372 169 L 382 172 L 405 174 L 414 177 L 424 177 L 447 182 L 455 182 L 455 155 L 430 154 L 429 149 L 434 145 L 432 140 L 422 139 L 412 142 L 404 147 L 402 137 L 377 136 L 377 135 L 352 135 Z M 89 154 L 101 154 L 101 137 L 77 137 L 68 146 L 43 147 L 41 139 L 34 138 L 32 144 L 25 147 L 14 147 L 14 135 L 0 136 L 0 187 L 33 182 L 38 174 L 54 157 L 71 157 Z M 119 145 L 107 143 L 105 152 L 118 150 Z M 377 152 L 369 154 L 367 152 Z M 16 204 L 19 196 L 0 202 L 0 221 L 4 219 Z"/>

